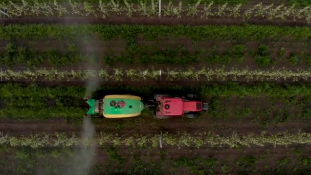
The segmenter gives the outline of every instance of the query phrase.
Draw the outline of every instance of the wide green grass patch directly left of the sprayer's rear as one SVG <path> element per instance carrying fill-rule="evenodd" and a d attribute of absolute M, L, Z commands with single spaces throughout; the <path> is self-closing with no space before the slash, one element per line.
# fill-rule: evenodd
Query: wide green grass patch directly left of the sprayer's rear
<path fill-rule="evenodd" d="M 84 88 L 79 86 L 42 87 L 36 84 L 3 84 L 1 98 L 5 103 L 0 118 L 80 118 L 86 108 Z M 83 90 L 83 91 L 82 91 Z"/>

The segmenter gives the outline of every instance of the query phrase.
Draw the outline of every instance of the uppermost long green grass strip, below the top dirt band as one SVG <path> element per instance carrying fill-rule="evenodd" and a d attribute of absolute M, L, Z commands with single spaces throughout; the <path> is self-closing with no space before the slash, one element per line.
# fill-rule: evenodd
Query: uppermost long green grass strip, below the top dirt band
<path fill-rule="evenodd" d="M 308 27 L 273 27 L 273 26 L 143 26 L 143 25 L 8 25 L 0 28 L 0 39 L 59 39 L 59 40 L 92 40 L 99 36 L 102 40 L 121 37 L 128 42 L 142 35 L 146 40 L 158 36 L 188 36 L 193 40 L 206 39 L 280 39 L 293 37 L 296 40 L 310 39 Z M 96 37 L 97 38 L 97 37 Z"/>

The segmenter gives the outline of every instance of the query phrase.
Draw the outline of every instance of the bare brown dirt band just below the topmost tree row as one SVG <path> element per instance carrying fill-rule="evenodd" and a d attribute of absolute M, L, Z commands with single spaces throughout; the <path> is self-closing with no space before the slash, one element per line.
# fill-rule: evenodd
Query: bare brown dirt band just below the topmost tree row
<path fill-rule="evenodd" d="M 267 19 L 249 19 L 243 21 L 241 18 L 213 18 L 202 19 L 199 17 L 183 17 L 170 18 L 162 16 L 159 17 L 119 17 L 114 16 L 107 19 L 96 17 L 21 17 L 21 18 L 5 18 L 0 20 L 0 24 L 108 24 L 108 25 L 274 25 L 274 26 L 311 26 L 305 20 L 297 19 L 296 21 L 290 19 L 282 20 L 267 20 Z"/>

